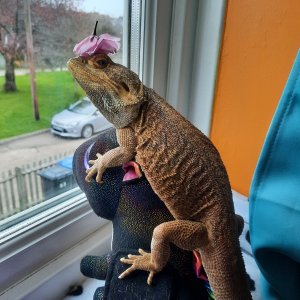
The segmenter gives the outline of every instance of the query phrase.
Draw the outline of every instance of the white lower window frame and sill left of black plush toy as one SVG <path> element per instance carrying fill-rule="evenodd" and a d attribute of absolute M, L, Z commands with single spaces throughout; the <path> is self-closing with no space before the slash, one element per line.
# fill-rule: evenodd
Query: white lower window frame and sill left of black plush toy
<path fill-rule="evenodd" d="M 80 193 L 2 231 L 0 274 L 5 276 L 0 277 L 0 298 L 21 299 L 44 283 L 45 270 L 49 279 L 76 255 L 80 260 L 101 239 L 110 239 L 107 224 Z"/>

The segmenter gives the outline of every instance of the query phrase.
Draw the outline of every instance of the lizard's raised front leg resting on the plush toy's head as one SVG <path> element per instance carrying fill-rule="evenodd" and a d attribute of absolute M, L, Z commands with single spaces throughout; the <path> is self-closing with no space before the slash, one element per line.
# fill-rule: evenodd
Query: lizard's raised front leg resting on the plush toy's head
<path fill-rule="evenodd" d="M 129 127 L 116 130 L 119 147 L 109 150 L 104 155 L 97 153 L 97 159 L 90 160 L 92 166 L 87 169 L 85 180 L 90 182 L 95 174 L 96 181 L 102 183 L 102 175 L 107 168 L 121 166 L 135 156 L 136 139 L 134 131 Z"/>

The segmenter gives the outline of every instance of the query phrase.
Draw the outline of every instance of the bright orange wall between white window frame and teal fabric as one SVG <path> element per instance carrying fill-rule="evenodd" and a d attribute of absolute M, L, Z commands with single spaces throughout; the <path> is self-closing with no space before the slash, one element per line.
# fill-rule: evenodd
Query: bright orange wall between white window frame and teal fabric
<path fill-rule="evenodd" d="M 211 138 L 247 195 L 300 48 L 300 0 L 228 0 Z"/>

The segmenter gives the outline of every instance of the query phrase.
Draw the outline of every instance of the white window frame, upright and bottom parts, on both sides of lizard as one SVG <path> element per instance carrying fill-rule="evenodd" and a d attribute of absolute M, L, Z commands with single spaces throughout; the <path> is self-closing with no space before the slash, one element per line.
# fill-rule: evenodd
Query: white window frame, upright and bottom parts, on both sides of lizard
<path fill-rule="evenodd" d="M 124 64 L 209 135 L 226 0 L 126 3 L 136 11 L 124 14 L 132 33 L 124 26 Z M 25 220 L 19 230 L 10 228 L 11 236 L 5 232 L 1 299 L 43 299 L 45 294 L 60 299 L 68 286 L 84 279 L 81 258 L 110 248 L 111 227 L 95 216 L 83 194 L 60 205 Z"/>

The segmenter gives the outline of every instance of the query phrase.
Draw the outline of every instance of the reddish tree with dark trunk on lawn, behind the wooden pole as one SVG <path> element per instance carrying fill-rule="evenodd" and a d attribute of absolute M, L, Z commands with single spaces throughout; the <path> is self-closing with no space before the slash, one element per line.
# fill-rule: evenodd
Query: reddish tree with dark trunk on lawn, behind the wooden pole
<path fill-rule="evenodd" d="M 48 25 L 48 33 L 51 33 L 51 25 L 69 10 L 75 9 L 78 0 L 32 0 L 33 23 L 43 20 Z M 0 0 L 0 54 L 5 60 L 5 91 L 16 91 L 15 62 L 26 56 L 26 37 L 24 23 L 24 1 Z M 50 14 L 49 14 L 50 12 Z M 34 42 L 43 37 L 43 27 L 38 28 L 41 22 L 36 22 L 34 30 Z M 50 25 L 50 28 L 49 28 Z M 51 40 L 51 39 L 50 39 Z M 51 41 L 50 41 L 51 42 Z M 50 56 L 49 56 L 50 57 Z"/>

